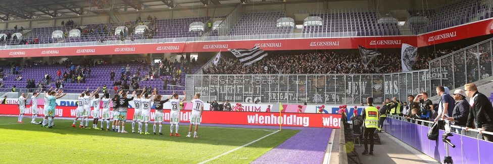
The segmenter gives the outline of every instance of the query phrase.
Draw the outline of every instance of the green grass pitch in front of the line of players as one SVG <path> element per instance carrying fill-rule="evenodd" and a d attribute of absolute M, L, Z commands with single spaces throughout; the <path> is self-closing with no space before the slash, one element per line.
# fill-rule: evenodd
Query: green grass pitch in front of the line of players
<path fill-rule="evenodd" d="M 212 158 L 207 163 L 250 163 L 299 132 L 199 126 L 200 138 L 188 138 L 186 123 L 180 124 L 182 136 L 175 137 L 169 136 L 169 124 L 163 125 L 165 135 L 153 135 L 153 124 L 149 124 L 151 135 L 141 135 L 130 133 L 129 122 L 125 130 L 130 132 L 122 134 L 73 128 L 73 120 L 55 119 L 57 126 L 47 129 L 29 124 L 29 116 L 24 124 L 16 119 L 0 117 L 0 163 L 200 163 Z M 89 124 L 92 127 L 92 119 Z"/>

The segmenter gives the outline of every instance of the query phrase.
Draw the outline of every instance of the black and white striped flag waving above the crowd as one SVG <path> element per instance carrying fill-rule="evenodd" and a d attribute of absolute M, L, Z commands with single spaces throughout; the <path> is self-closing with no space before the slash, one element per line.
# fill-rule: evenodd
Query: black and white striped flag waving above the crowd
<path fill-rule="evenodd" d="M 268 55 L 266 51 L 258 46 L 255 46 L 252 49 L 229 49 L 229 51 L 231 51 L 244 66 L 260 61 Z"/>

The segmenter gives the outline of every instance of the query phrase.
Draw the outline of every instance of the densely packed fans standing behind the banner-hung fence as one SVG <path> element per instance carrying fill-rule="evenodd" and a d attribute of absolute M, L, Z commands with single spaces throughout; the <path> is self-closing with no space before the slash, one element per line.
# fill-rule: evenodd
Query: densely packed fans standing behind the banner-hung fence
<path fill-rule="evenodd" d="M 367 74 L 400 72 L 399 52 L 382 53 L 366 68 L 358 52 L 318 51 L 269 51 L 264 59 L 243 66 L 236 58 L 222 58 L 217 66 L 204 69 L 205 74 Z M 427 69 L 429 57 L 418 55 L 414 69 Z"/>

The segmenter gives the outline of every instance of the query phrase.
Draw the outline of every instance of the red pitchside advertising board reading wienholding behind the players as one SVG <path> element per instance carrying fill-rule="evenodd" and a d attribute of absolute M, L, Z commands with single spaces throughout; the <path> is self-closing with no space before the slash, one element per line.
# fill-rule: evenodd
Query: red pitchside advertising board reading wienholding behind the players
<path fill-rule="evenodd" d="M 1 115 L 19 115 L 18 105 L 3 104 Z M 43 115 L 43 106 L 38 106 L 39 116 Z M 25 115 L 32 115 L 31 105 L 27 105 Z M 102 110 L 100 110 L 102 112 Z M 128 108 L 127 118 L 133 118 L 134 109 Z M 75 118 L 76 106 L 57 106 L 56 116 L 65 118 Z M 164 121 L 169 121 L 169 110 L 164 111 Z M 182 110 L 180 122 L 189 122 L 190 110 Z M 151 121 L 154 121 L 155 111 L 151 110 Z M 92 118 L 92 113 L 91 113 Z M 262 113 L 262 112 L 225 112 L 225 111 L 204 111 L 202 123 L 207 124 L 232 124 L 232 125 L 266 125 L 266 126 L 289 126 L 289 127 L 324 127 L 340 128 L 339 122 L 341 115 L 337 114 L 305 114 L 305 113 Z"/>

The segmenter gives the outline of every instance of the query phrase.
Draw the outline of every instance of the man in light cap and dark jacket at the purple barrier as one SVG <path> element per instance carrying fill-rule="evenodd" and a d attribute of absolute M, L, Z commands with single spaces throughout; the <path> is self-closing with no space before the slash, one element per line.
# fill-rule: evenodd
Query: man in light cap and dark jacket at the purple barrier
<path fill-rule="evenodd" d="M 454 91 L 454 99 L 457 100 L 452 117 L 447 120 L 454 122 L 455 126 L 466 127 L 467 115 L 469 114 L 469 103 L 466 100 L 466 93 L 462 89 Z M 461 134 L 462 129 L 453 128 L 457 134 Z"/>

